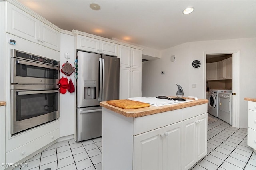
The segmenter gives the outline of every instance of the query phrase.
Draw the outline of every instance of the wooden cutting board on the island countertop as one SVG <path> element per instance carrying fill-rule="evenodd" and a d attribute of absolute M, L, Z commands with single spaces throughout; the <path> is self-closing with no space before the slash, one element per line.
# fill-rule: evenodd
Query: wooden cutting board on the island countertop
<path fill-rule="evenodd" d="M 107 101 L 108 104 L 113 105 L 115 107 L 120 107 L 123 109 L 138 109 L 142 107 L 149 107 L 150 104 L 143 103 L 140 101 L 133 101 L 133 100 L 110 100 Z"/>

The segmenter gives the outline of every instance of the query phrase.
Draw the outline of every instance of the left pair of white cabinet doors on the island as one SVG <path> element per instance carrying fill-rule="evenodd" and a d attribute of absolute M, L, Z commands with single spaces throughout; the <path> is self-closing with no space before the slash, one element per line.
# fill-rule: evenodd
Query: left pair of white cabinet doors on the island
<path fill-rule="evenodd" d="M 182 122 L 134 136 L 134 169 L 181 169 Z"/>

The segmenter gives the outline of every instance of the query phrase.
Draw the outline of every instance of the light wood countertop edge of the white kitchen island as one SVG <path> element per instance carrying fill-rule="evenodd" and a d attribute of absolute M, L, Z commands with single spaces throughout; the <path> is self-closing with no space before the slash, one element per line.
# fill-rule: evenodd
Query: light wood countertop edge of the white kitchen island
<path fill-rule="evenodd" d="M 119 107 L 109 105 L 106 101 L 103 101 L 103 102 L 100 102 L 100 106 L 105 107 L 106 109 L 109 109 L 116 113 L 119 113 L 120 115 L 124 115 L 125 117 L 142 117 L 142 116 L 146 116 L 146 115 L 152 115 L 152 114 L 156 114 L 156 113 L 162 113 L 162 112 L 166 112 L 166 111 L 182 109 L 185 107 L 202 105 L 205 103 L 208 103 L 207 99 L 198 99 L 198 100 L 194 100 L 191 102 L 165 105 L 165 106 L 160 106 L 160 107 L 150 106 L 150 107 L 144 107 L 144 108 L 139 108 L 139 109 L 122 109 Z"/>

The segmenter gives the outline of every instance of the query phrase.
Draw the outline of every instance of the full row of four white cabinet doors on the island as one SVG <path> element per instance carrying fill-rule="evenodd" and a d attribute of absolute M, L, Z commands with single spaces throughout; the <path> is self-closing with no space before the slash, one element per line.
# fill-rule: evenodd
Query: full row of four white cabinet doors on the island
<path fill-rule="evenodd" d="M 135 170 L 187 170 L 207 153 L 207 113 L 134 136 Z"/>

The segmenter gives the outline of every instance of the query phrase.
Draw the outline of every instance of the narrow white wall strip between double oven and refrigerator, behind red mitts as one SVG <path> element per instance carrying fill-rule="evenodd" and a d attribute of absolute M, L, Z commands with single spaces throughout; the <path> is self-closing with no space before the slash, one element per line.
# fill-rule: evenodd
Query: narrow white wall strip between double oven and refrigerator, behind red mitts
<path fill-rule="evenodd" d="M 64 57 L 65 53 L 70 53 L 70 59 L 66 59 Z M 68 34 L 60 34 L 60 69 L 62 65 L 68 61 L 68 63 L 72 64 L 74 67 L 74 62 L 76 59 L 76 51 L 75 51 L 75 38 L 74 36 Z M 60 71 L 60 78 L 61 76 L 67 77 L 72 80 L 73 84 L 75 85 L 75 73 L 72 75 L 67 76 L 64 75 Z M 74 93 L 67 93 L 62 94 L 60 93 L 60 137 L 68 136 L 74 134 L 74 118 L 76 114 L 76 89 Z"/>

